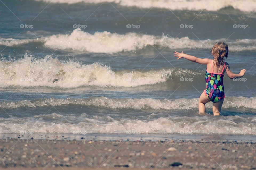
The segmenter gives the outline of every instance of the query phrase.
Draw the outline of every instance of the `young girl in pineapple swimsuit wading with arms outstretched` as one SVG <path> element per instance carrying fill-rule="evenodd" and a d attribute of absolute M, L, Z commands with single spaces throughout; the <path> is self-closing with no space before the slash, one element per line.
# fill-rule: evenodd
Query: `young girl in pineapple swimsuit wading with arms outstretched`
<path fill-rule="evenodd" d="M 193 61 L 199 64 L 206 64 L 207 69 L 205 71 L 205 81 L 206 89 L 202 92 L 199 102 L 198 110 L 201 113 L 205 113 L 205 104 L 209 101 L 213 102 L 213 115 L 217 116 L 221 112 L 221 107 L 225 98 L 223 77 L 226 71 L 227 76 L 231 79 L 240 78 L 245 75 L 246 69 L 240 71 L 239 74 L 234 74 L 229 67 L 229 64 L 225 62 L 227 55 L 229 53 L 229 48 L 227 44 L 223 42 L 215 43 L 211 54 L 213 60 L 208 58 L 197 58 L 195 56 L 187 55 L 183 52 L 174 52 L 174 56 L 180 58 L 186 58 L 189 61 Z"/>

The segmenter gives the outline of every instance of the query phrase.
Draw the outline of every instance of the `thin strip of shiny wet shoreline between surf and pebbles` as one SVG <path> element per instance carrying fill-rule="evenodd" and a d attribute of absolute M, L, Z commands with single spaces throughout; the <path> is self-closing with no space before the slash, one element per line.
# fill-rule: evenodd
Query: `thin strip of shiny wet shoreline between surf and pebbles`
<path fill-rule="evenodd" d="M 68 134 L 32 133 L 0 134 L 0 139 L 77 140 L 77 141 L 174 141 L 174 142 L 256 142 L 249 134 Z"/>

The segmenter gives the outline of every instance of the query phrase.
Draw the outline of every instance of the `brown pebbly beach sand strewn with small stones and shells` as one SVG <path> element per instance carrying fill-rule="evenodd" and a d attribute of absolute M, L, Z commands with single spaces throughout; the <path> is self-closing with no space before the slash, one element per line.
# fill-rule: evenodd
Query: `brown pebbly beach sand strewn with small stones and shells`
<path fill-rule="evenodd" d="M 1 169 L 256 169 L 253 142 L 1 139 L 0 149 Z"/>

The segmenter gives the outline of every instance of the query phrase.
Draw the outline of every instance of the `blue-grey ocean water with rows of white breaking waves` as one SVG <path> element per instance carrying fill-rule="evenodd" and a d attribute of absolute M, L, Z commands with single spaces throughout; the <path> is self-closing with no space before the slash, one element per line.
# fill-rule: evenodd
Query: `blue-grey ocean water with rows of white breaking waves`
<path fill-rule="evenodd" d="M 0 4 L 1 134 L 256 135 L 256 1 Z M 212 58 L 218 41 L 247 72 L 225 74 L 214 117 L 197 111 L 206 66 L 173 52 Z"/>

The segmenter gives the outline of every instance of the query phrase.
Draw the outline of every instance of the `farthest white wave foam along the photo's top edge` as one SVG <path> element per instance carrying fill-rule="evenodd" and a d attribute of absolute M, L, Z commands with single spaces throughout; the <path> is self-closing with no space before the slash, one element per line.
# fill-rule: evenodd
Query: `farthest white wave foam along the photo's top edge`
<path fill-rule="evenodd" d="M 68 3 L 74 4 L 79 2 L 84 3 L 116 3 L 117 5 L 124 7 L 138 7 L 138 8 L 164 8 L 170 10 L 207 10 L 207 11 L 218 11 L 222 8 L 233 7 L 240 11 L 250 12 L 256 10 L 256 1 L 254 0 L 36 0 L 44 1 L 47 3 Z"/>

